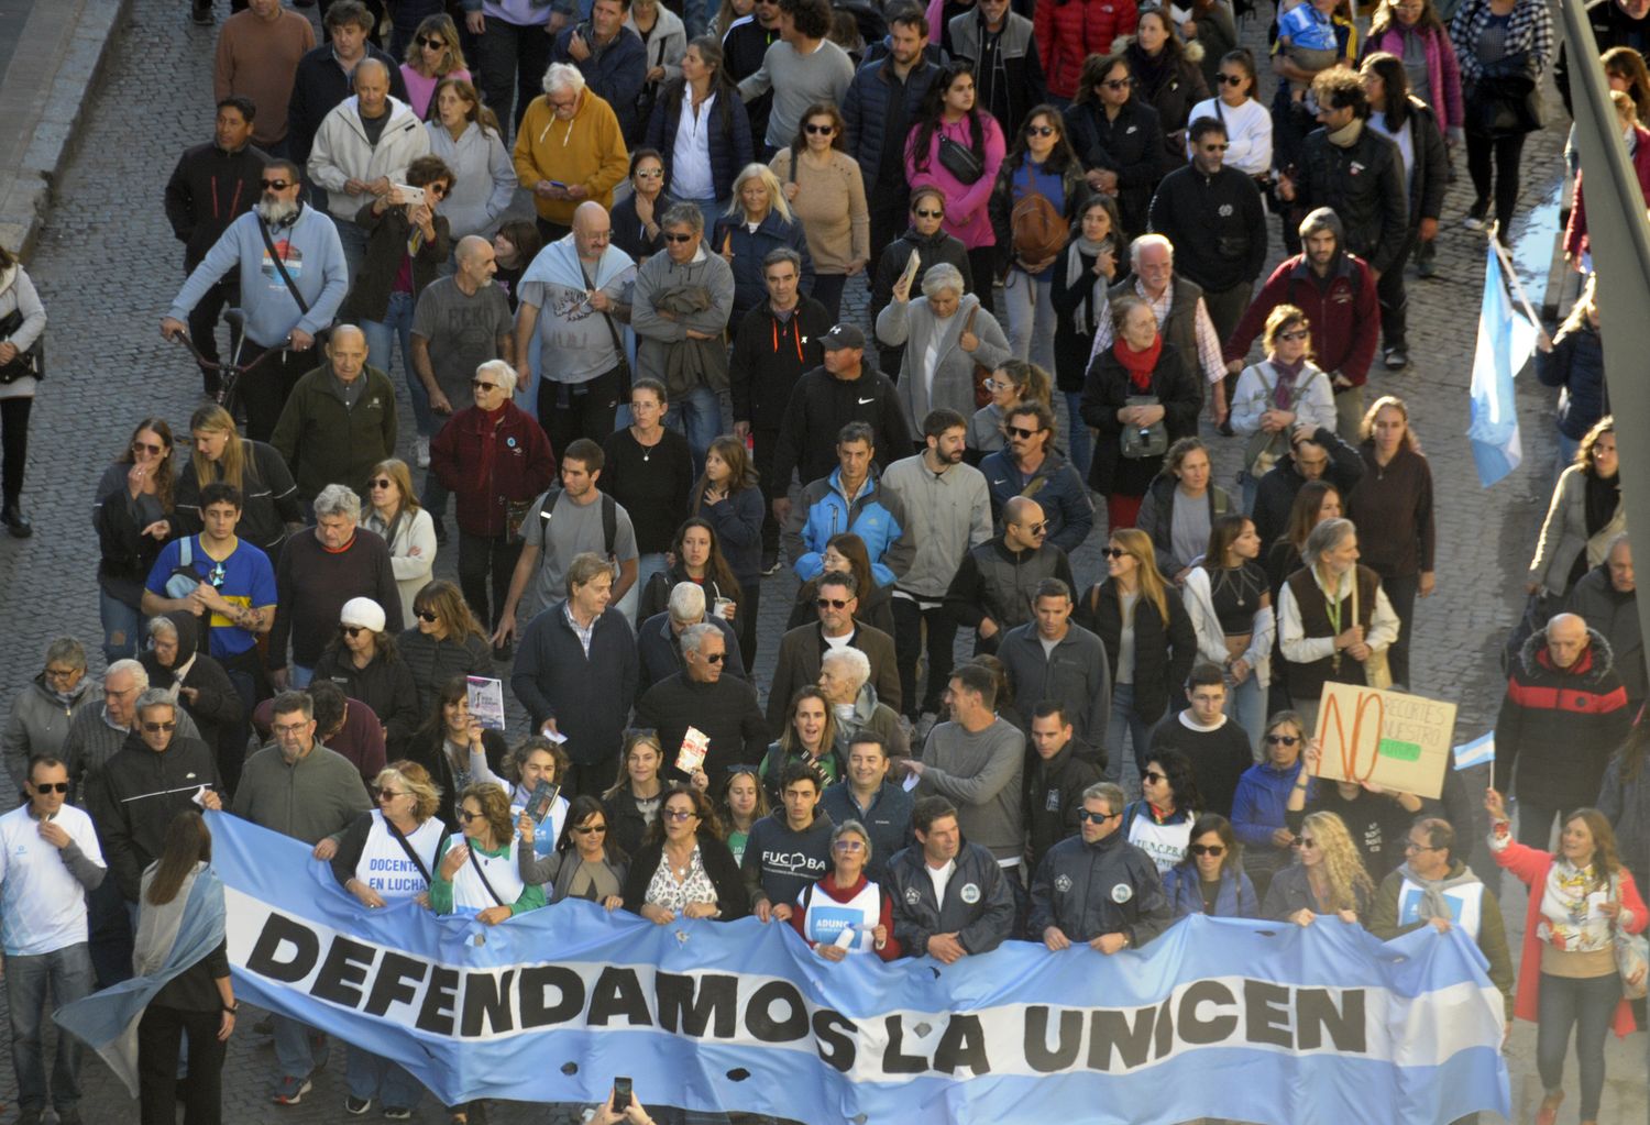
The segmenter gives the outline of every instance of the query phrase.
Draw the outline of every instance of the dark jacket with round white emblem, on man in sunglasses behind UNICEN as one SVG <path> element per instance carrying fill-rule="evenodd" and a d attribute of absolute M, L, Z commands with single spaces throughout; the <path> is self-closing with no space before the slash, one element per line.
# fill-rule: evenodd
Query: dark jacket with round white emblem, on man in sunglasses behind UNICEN
<path fill-rule="evenodd" d="M 1031 881 L 1028 930 L 1041 935 L 1049 925 L 1072 942 L 1101 934 L 1125 934 L 1138 948 L 1168 929 L 1175 912 L 1163 894 L 1152 856 L 1114 831 L 1099 843 L 1082 836 L 1061 840 L 1048 850 Z"/>

